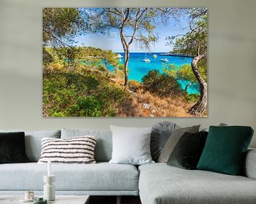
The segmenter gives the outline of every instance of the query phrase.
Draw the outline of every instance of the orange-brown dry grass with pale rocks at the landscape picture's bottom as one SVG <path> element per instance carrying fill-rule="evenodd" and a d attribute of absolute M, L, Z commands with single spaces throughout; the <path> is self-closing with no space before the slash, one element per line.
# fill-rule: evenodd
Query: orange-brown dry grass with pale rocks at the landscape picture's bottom
<path fill-rule="evenodd" d="M 117 84 L 124 82 L 121 79 L 113 81 Z M 122 106 L 116 107 L 117 117 L 193 117 L 188 113 L 193 103 L 186 102 L 183 96 L 160 97 L 144 91 L 142 84 L 136 85 L 129 84 L 131 97 Z"/>

